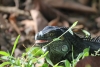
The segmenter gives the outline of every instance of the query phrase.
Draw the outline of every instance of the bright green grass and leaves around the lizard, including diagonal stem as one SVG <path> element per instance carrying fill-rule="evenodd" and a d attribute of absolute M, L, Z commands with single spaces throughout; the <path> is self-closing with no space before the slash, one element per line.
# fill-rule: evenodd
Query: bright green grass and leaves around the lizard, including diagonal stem
<path fill-rule="evenodd" d="M 73 35 L 73 32 L 71 31 L 71 29 L 76 24 L 77 24 L 77 22 L 75 22 L 67 30 L 72 35 Z M 65 33 L 63 33 L 61 36 L 63 36 Z M 59 40 L 60 37 L 55 38 L 52 42 L 54 42 L 56 40 Z M 41 48 L 32 46 L 30 48 L 26 48 L 26 52 L 22 53 L 21 57 L 16 58 L 16 57 L 13 56 L 13 54 L 14 54 L 14 51 L 16 49 L 19 38 L 20 38 L 20 35 L 16 38 L 11 53 L 10 52 L 5 52 L 5 51 L 0 51 L 0 55 L 1 55 L 0 60 L 2 61 L 2 64 L 0 64 L 0 67 L 36 67 L 36 64 L 41 64 L 42 63 L 40 61 L 40 59 L 42 59 L 42 58 L 46 59 L 47 62 L 42 63 L 40 67 L 48 67 L 49 65 L 51 65 L 52 67 L 75 67 L 76 63 L 80 60 L 80 58 L 83 59 L 84 57 L 89 56 L 89 48 L 86 48 L 86 49 L 83 50 L 82 53 L 80 53 L 77 56 L 77 58 L 73 58 L 74 55 L 72 53 L 72 59 L 73 60 L 72 60 L 71 63 L 67 59 L 65 59 L 65 60 L 62 60 L 62 61 L 60 61 L 60 62 L 58 62 L 57 64 L 54 65 L 51 62 L 51 60 L 46 57 L 46 55 L 49 53 L 48 51 L 43 52 Z M 52 42 L 48 43 L 47 45 L 50 45 Z M 72 48 L 72 51 L 73 51 L 73 48 Z M 64 65 L 59 66 L 59 63 L 64 63 Z"/>

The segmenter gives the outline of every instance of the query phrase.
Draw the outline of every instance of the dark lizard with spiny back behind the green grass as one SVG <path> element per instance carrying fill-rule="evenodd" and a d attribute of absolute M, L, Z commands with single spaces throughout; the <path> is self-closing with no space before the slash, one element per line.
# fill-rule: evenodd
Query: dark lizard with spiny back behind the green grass
<path fill-rule="evenodd" d="M 61 36 L 68 28 L 57 26 L 46 26 L 43 30 L 35 35 L 35 43 L 43 48 L 54 38 Z M 68 59 L 72 61 L 72 46 L 74 58 L 78 56 L 85 48 L 89 48 L 89 53 L 94 53 L 100 48 L 100 36 L 91 38 L 80 37 L 75 32 L 65 33 L 60 40 L 47 45 L 44 50 L 49 51 L 48 57 L 53 64 L 61 60 Z"/>

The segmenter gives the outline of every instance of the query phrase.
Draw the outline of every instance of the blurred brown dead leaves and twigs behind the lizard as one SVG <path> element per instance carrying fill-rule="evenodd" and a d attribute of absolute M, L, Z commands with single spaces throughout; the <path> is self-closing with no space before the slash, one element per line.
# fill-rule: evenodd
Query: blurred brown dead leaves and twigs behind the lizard
<path fill-rule="evenodd" d="M 70 27 L 75 21 L 75 32 L 100 36 L 100 0 L 0 0 L 0 50 L 11 51 L 21 35 L 15 50 L 20 56 L 45 26 Z"/>

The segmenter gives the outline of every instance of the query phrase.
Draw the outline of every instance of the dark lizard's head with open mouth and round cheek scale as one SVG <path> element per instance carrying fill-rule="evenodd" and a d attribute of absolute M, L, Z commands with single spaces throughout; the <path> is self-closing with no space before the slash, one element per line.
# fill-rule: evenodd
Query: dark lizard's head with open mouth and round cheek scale
<path fill-rule="evenodd" d="M 38 32 L 35 35 L 35 43 L 38 44 L 40 47 L 43 47 L 50 43 L 54 38 L 59 37 L 62 35 L 67 28 L 57 27 L 57 26 L 46 26 L 42 31 Z M 62 36 L 58 41 L 52 42 L 48 45 L 45 50 L 49 51 L 50 59 L 53 63 L 57 63 L 61 61 L 61 58 L 69 52 L 69 43 L 65 39 L 65 35 Z"/>

